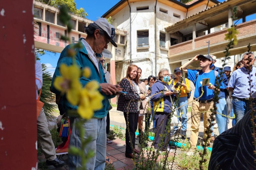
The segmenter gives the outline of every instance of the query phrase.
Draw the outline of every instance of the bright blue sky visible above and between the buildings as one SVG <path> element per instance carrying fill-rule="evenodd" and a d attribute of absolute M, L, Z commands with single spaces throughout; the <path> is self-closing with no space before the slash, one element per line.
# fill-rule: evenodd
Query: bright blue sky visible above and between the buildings
<path fill-rule="evenodd" d="M 86 2 L 87 1 L 87 2 Z M 75 0 L 77 3 L 77 9 L 84 8 L 85 12 L 87 12 L 89 20 L 95 21 L 100 18 L 103 14 L 105 14 L 110 8 L 116 5 L 120 0 Z M 223 2 L 224 0 L 219 0 L 219 2 Z M 256 18 L 256 14 L 252 16 L 247 16 L 246 21 L 253 20 Z M 236 24 L 240 24 L 242 21 L 240 19 Z M 60 53 L 52 53 L 47 52 L 46 54 L 40 57 L 40 62 L 44 63 L 48 66 L 48 70 L 52 75 L 57 66 L 57 61 L 59 59 Z"/>

